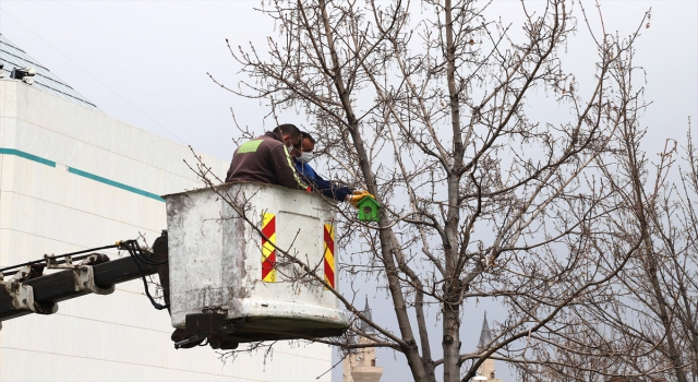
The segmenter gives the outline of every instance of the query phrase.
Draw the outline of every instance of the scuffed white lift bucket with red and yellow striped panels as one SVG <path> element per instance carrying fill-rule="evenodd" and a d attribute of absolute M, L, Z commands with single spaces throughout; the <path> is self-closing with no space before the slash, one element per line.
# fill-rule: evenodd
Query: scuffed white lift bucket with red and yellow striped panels
<path fill-rule="evenodd" d="M 335 288 L 338 282 L 333 202 L 260 183 L 164 198 L 170 314 L 180 329 L 172 339 L 180 346 L 207 337 L 214 348 L 233 348 L 336 336 L 348 327 L 338 299 L 321 282 Z"/>

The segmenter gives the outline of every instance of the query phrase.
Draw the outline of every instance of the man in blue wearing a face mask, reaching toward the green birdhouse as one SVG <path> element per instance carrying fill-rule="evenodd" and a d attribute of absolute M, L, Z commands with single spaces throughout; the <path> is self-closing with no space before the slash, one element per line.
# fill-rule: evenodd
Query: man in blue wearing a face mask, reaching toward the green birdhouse
<path fill-rule="evenodd" d="M 316 192 L 339 202 L 350 202 L 354 207 L 365 196 L 374 198 L 368 191 L 353 190 L 351 188 L 332 183 L 320 176 L 309 164 L 313 159 L 315 139 L 306 132 L 301 132 L 302 140 L 299 146 L 294 146 L 291 155 L 296 159 L 296 169 L 301 179 Z M 375 198 L 374 198 L 375 199 Z"/>

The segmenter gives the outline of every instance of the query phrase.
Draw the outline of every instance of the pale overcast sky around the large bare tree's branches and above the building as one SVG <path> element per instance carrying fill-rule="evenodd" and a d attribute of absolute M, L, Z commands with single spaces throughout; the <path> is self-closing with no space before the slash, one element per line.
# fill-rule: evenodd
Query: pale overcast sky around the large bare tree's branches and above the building
<path fill-rule="evenodd" d="M 260 133 L 266 109 L 217 87 L 206 72 L 234 85 L 240 79 L 225 39 L 232 46 L 250 41 L 262 46 L 266 35 L 276 35 L 268 20 L 253 10 L 260 3 L 2 0 L 0 33 L 107 115 L 229 160 L 234 134 L 230 107 L 242 123 Z M 495 0 L 494 10 L 505 13 L 518 4 Z M 601 4 L 606 28 L 621 35 L 634 31 L 652 8 L 651 25 L 642 29 L 636 46 L 636 64 L 647 70 L 646 98 L 654 103 L 642 118 L 650 138 L 645 148 L 653 155 L 666 138 L 682 142 L 688 116 L 694 128 L 698 123 L 698 2 Z M 569 59 L 579 62 L 587 52 L 593 56 L 585 29 L 570 40 L 568 51 Z M 303 124 L 302 120 L 289 122 Z M 492 320 L 504 319 L 496 309 L 488 309 Z M 469 317 L 464 350 L 476 345 L 482 309 Z M 399 356 L 394 361 L 383 351 L 378 365 L 385 367 L 383 381 L 409 379 Z M 498 377 L 514 381 L 502 368 Z"/>

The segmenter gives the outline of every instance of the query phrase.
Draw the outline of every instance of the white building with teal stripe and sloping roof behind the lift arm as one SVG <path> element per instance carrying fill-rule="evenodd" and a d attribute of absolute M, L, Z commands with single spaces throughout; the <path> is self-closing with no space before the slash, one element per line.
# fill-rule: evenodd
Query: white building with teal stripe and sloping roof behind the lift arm
<path fill-rule="evenodd" d="M 152 243 L 166 228 L 158 195 L 201 186 L 189 148 L 108 117 L 2 35 L 0 62 L 0 267 L 140 234 Z M 8 79 L 13 67 L 35 68 L 34 84 Z M 204 159 L 225 176 L 227 162 Z M 59 307 L 2 323 L 0 381 L 310 381 L 332 366 L 320 344 L 225 365 L 209 347 L 174 350 L 140 280 Z"/>

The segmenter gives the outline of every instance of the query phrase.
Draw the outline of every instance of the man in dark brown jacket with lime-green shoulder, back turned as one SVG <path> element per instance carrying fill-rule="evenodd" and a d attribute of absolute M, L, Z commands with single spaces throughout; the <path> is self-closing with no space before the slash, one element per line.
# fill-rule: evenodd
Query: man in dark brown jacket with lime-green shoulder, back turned
<path fill-rule="evenodd" d="M 306 190 L 289 154 L 294 145 L 300 148 L 301 139 L 296 126 L 285 123 L 241 144 L 232 155 L 226 183 L 248 181 Z"/>

